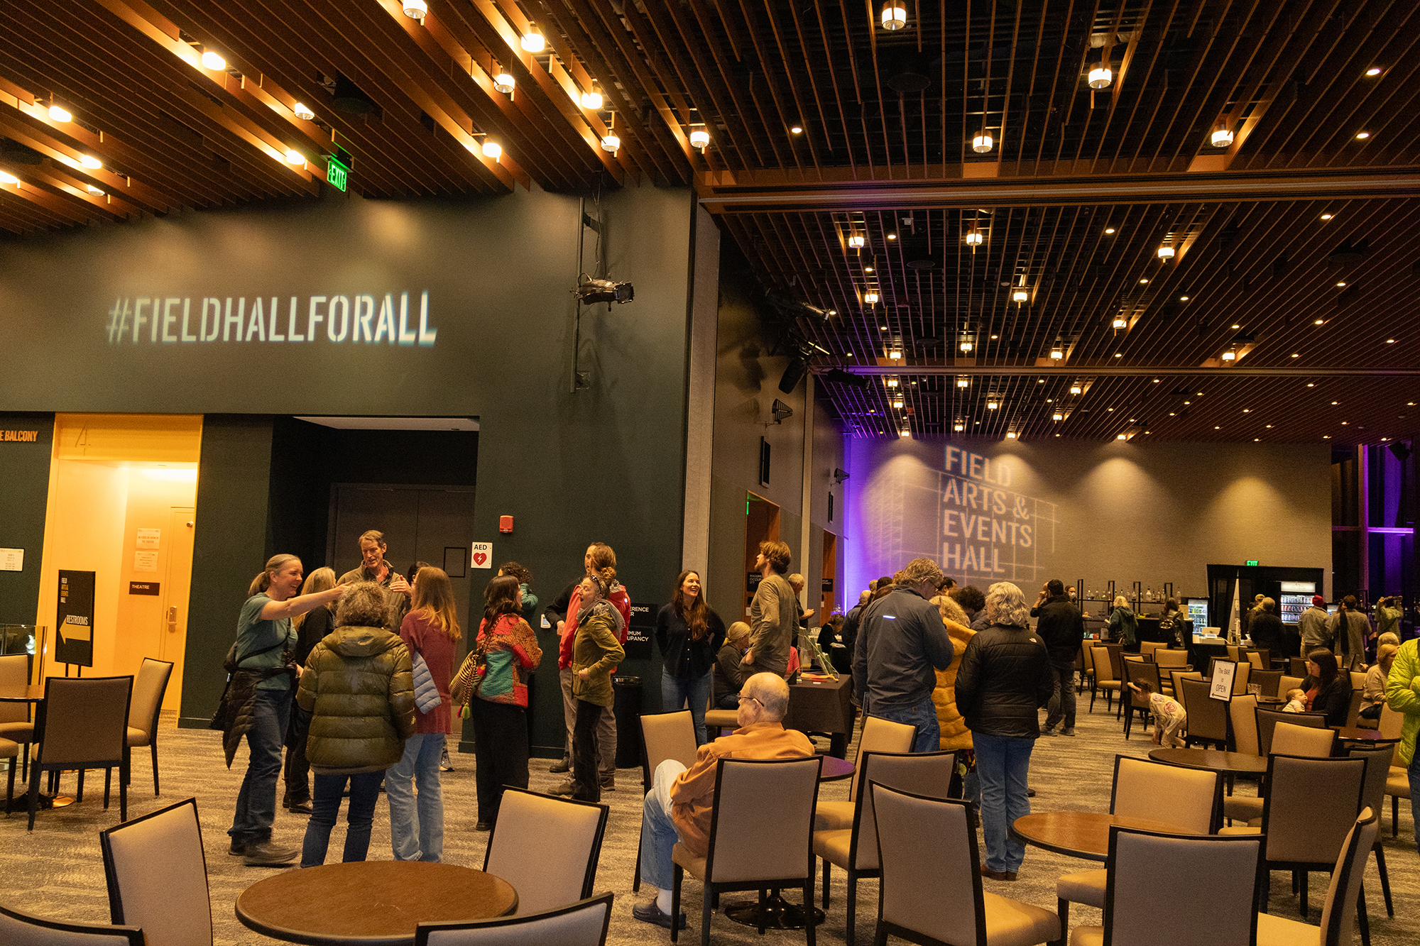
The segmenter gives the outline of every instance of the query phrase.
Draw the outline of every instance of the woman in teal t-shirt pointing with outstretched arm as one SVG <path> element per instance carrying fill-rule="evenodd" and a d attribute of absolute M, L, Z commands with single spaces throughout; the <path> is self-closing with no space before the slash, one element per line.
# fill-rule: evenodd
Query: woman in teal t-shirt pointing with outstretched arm
<path fill-rule="evenodd" d="M 247 737 L 251 757 L 237 793 L 237 811 L 231 818 L 230 852 L 244 857 L 247 866 L 288 864 L 300 854 L 271 842 L 275 821 L 275 778 L 281 774 L 281 744 L 291 719 L 291 678 L 301 668 L 290 662 L 297 648 L 291 618 L 335 601 L 339 588 L 298 595 L 301 560 L 273 555 L 266 570 L 251 580 L 247 601 L 237 618 L 234 669 L 227 686 L 227 729 L 223 749 L 227 767 L 241 737 Z M 293 668 L 290 672 L 287 668 Z"/>

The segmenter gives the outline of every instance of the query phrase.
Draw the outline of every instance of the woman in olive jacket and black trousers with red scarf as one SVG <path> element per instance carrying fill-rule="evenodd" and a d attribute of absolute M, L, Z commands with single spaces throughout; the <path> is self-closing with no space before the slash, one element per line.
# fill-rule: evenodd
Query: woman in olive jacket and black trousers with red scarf
<path fill-rule="evenodd" d="M 582 578 L 577 611 L 577 636 L 572 641 L 572 697 L 577 722 L 572 724 L 572 797 L 601 801 L 598 722 L 612 705 L 612 668 L 626 656 L 621 636 L 626 626 L 621 612 L 606 601 L 616 581 L 615 568 L 602 568 Z"/>

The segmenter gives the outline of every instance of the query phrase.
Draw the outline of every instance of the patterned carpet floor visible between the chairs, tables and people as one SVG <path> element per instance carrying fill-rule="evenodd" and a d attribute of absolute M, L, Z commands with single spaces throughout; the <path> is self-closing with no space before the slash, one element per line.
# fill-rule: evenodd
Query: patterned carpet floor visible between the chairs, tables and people
<path fill-rule="evenodd" d="M 1139 729 L 1135 730 L 1133 739 L 1126 741 L 1113 714 L 1105 713 L 1103 703 L 1096 705 L 1095 713 L 1089 713 L 1086 707 L 1088 699 L 1081 703 L 1076 726 L 1079 734 L 1076 737 L 1041 739 L 1037 743 L 1031 764 L 1031 785 L 1037 790 L 1037 797 L 1032 800 L 1035 811 L 1108 811 L 1115 753 L 1145 756 L 1150 749 L 1147 734 L 1142 734 Z M 163 795 L 155 798 L 152 794 L 152 776 L 146 753 L 135 753 L 129 812 L 143 814 L 187 795 L 196 795 L 207 852 L 216 942 L 222 946 L 273 942 L 241 926 L 233 912 L 237 893 L 253 881 L 270 876 L 270 869 L 246 868 L 241 866 L 239 858 L 227 855 L 226 830 L 241 781 L 243 756 L 239 756 L 239 763 L 229 771 L 223 766 L 219 734 L 206 730 L 168 727 L 162 732 L 159 746 Z M 852 757 L 852 751 L 849 756 Z M 454 756 L 454 764 L 456 771 L 446 773 L 443 783 L 444 859 L 452 864 L 481 866 L 487 835 L 473 831 L 477 814 L 473 757 Z M 548 774 L 547 767 L 548 760 L 534 760 L 531 788 L 548 790 L 561 780 L 561 776 Z M 115 795 L 114 807 L 104 811 L 102 784 L 102 776 L 92 774 L 82 804 L 40 812 L 33 832 L 26 831 L 24 815 L 17 814 L 0 820 L 0 902 L 47 916 L 89 922 L 108 920 L 108 896 L 104 886 L 98 832 L 118 822 L 118 798 Z M 72 776 L 65 785 L 72 791 Z M 622 770 L 618 773 L 618 791 L 605 793 L 602 798 L 611 807 L 611 818 L 596 874 L 596 889 L 616 892 L 616 905 L 608 936 L 611 943 L 669 942 L 667 930 L 640 923 L 630 915 L 632 905 L 638 898 L 630 892 L 630 882 L 640 828 L 639 787 L 640 771 Z M 1242 788 L 1241 791 L 1250 790 Z M 826 798 L 846 798 L 846 781 L 829 783 L 822 787 L 822 797 Z M 1372 943 L 1375 946 L 1409 946 L 1420 942 L 1420 901 L 1417 901 L 1420 861 L 1416 857 L 1409 804 L 1402 804 L 1399 838 L 1392 838 L 1389 804 L 1386 808 L 1382 838 L 1396 916 L 1386 918 L 1376 861 L 1372 858 L 1366 868 L 1365 881 L 1370 905 Z M 277 841 L 300 847 L 304 831 L 304 818 L 285 812 L 278 815 Z M 342 839 L 344 827 L 337 825 L 331 838 L 332 858 L 338 857 Z M 371 858 L 390 858 L 389 810 L 383 801 L 376 811 Z M 1089 866 L 1092 865 L 1085 861 L 1030 848 L 1020 881 L 1014 884 L 985 881 L 985 889 L 1054 909 L 1055 878 Z M 1312 923 L 1319 920 L 1319 905 L 1326 893 L 1326 881 L 1325 874 L 1311 875 L 1309 920 Z M 821 942 L 845 942 L 843 891 L 843 874 L 835 871 L 832 906 L 828 910 L 826 922 L 818 929 Z M 1210 884 L 1207 878 L 1200 878 L 1194 889 L 1160 892 L 1160 896 L 1164 895 L 1190 898 L 1196 901 L 1198 913 L 1204 915 Z M 643 888 L 639 896 L 649 896 L 648 889 Z M 723 903 L 730 899 L 726 896 Z M 693 881 L 686 885 L 684 908 L 692 916 L 689 942 L 696 942 L 699 939 L 700 891 Z M 1271 910 L 1282 916 L 1296 918 L 1296 898 L 1291 893 L 1287 874 L 1274 874 Z M 859 886 L 856 936 L 859 943 L 872 942 L 876 912 L 878 882 L 865 881 Z M 1099 910 L 1072 906 L 1072 925 L 1099 922 Z M 738 926 L 721 915 L 716 915 L 711 922 L 711 939 L 717 943 L 792 943 L 802 942 L 802 932 L 771 932 L 760 939 L 754 929 Z"/>

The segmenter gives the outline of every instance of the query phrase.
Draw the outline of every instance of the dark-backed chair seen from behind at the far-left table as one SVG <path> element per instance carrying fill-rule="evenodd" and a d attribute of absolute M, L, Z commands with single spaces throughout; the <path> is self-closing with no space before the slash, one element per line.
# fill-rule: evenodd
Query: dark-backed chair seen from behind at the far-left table
<path fill-rule="evenodd" d="M 38 749 L 30 766 L 30 830 L 40 801 L 40 776 L 78 768 L 84 798 L 84 770 L 104 770 L 104 808 L 108 808 L 114 768 L 118 768 L 118 820 L 128 821 L 128 700 L 131 676 L 51 676 L 44 682 L 44 714 L 34 739 Z"/>

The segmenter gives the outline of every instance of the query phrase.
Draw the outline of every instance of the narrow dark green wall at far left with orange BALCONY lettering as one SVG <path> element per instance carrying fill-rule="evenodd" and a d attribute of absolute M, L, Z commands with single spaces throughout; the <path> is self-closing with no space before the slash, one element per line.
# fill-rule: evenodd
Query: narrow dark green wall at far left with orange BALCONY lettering
<path fill-rule="evenodd" d="M 54 415 L 0 413 L 0 429 L 40 432 L 34 443 L 0 442 L 0 483 L 4 483 L 0 545 L 24 550 L 24 571 L 0 571 L 0 624 L 34 624 L 50 494 L 50 455 L 54 452 Z M 53 624 L 53 616 L 48 624 Z"/>

